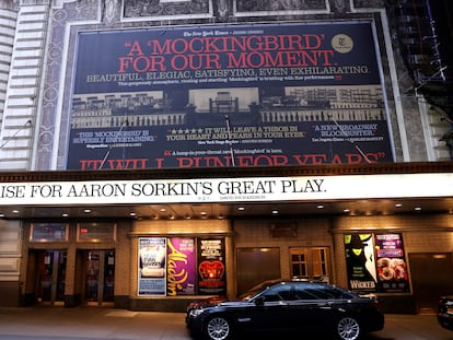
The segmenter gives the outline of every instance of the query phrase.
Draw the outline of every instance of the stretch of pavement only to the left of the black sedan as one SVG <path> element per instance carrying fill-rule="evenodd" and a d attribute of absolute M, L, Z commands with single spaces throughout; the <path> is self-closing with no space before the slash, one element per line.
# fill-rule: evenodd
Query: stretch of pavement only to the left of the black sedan
<path fill-rule="evenodd" d="M 185 314 L 106 307 L 0 308 L 0 339 L 190 339 Z"/>

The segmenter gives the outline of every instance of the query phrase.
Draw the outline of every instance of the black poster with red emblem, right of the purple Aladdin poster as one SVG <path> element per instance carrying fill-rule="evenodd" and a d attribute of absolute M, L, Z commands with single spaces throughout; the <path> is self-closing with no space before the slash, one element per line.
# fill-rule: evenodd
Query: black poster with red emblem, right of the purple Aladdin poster
<path fill-rule="evenodd" d="M 226 295 L 224 239 L 198 239 L 198 294 Z"/>

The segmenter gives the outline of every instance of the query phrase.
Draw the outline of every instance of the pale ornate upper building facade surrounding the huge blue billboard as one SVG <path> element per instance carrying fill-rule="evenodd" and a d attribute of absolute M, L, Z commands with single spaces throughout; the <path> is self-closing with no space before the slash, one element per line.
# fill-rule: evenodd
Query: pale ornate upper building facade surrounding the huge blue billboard
<path fill-rule="evenodd" d="M 15 43 L 0 140 L 0 168 L 63 169 L 66 167 L 76 34 L 91 30 L 117 30 L 190 24 L 356 20 L 373 17 L 380 39 L 391 133 L 396 162 L 444 160 L 446 145 L 437 136 L 448 129 L 442 117 L 420 113 L 422 98 L 408 94 L 410 79 L 392 39 L 396 27 L 381 0 L 274 1 L 268 9 L 252 1 L 200 1 L 178 5 L 166 1 L 146 7 L 140 1 L 22 1 L 8 13 L 18 15 Z M 4 5 L 3 5 L 4 7 Z M 136 8 L 135 8 L 136 7 Z M 171 13 L 171 14 L 169 14 Z M 11 23 L 14 23 L 11 22 Z M 410 91 L 409 91 L 410 92 Z M 433 117 L 433 118 L 432 118 Z M 432 133 L 423 133 L 426 129 Z M 440 131 L 440 132 L 439 132 Z M 427 150 L 431 148 L 431 150 Z"/>

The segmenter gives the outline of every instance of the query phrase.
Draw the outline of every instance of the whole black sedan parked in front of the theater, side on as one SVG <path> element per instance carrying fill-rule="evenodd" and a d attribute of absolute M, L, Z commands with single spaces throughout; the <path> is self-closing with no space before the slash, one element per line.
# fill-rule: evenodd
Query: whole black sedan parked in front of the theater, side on
<path fill-rule="evenodd" d="M 211 297 L 193 302 L 186 325 L 195 337 L 231 339 L 245 331 L 303 331 L 356 340 L 384 328 L 374 296 L 359 296 L 327 283 L 266 281 L 237 301 Z"/>

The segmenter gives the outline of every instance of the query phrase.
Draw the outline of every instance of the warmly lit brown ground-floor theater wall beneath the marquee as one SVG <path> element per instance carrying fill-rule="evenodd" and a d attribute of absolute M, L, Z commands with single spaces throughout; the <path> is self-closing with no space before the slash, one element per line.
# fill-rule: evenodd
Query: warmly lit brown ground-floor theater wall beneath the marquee
<path fill-rule="evenodd" d="M 50 222 L 50 221 L 49 221 Z M 81 250 L 115 251 L 114 306 L 132 310 L 183 312 L 193 295 L 140 296 L 138 294 L 140 237 L 208 237 L 225 239 L 226 294 L 239 293 L 239 251 L 243 249 L 277 249 L 279 277 L 291 278 L 291 249 L 325 248 L 328 254 L 328 274 L 323 280 L 348 286 L 345 235 L 400 234 L 407 263 L 410 290 L 405 293 L 381 293 L 380 302 L 386 312 L 418 313 L 417 291 L 411 286 L 410 256 L 453 254 L 453 216 L 451 214 L 409 214 L 382 216 L 312 216 L 293 219 L 237 220 L 137 220 L 117 221 L 116 237 L 112 242 L 77 239 L 77 221 L 68 221 L 67 242 L 33 242 L 31 225 L 16 223 L 0 225 L 0 292 L 9 296 L 2 305 L 31 305 L 37 301 L 36 251 L 67 253 L 63 304 L 67 307 L 83 303 Z M 23 233 L 22 233 L 23 230 Z M 264 268 L 264 269 L 263 269 Z M 255 270 L 266 270 L 259 267 Z M 449 274 L 449 273 L 446 273 Z M 445 275 L 440 272 L 439 278 Z M 429 281 L 430 279 L 428 279 Z M 437 280 L 432 278 L 432 280 Z M 433 282 L 434 282 L 433 281 Z M 22 282 L 22 284 L 19 284 Z"/>

